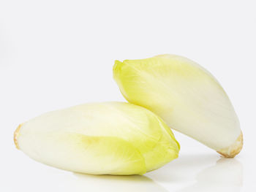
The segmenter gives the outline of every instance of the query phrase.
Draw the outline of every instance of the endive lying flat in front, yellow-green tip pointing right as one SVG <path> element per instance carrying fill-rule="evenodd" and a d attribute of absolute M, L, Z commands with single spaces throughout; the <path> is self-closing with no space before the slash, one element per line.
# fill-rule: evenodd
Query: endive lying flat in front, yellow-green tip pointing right
<path fill-rule="evenodd" d="M 170 128 L 134 104 L 81 104 L 45 113 L 15 131 L 15 145 L 43 164 L 88 174 L 144 174 L 178 157 Z"/>

